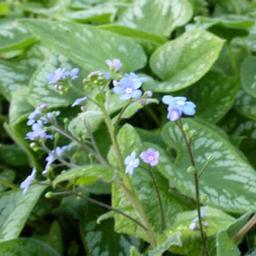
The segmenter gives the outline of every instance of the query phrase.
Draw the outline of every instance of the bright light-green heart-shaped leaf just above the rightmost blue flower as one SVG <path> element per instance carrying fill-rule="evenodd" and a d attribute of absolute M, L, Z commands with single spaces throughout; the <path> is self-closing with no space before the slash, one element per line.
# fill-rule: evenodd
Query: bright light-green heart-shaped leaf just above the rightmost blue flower
<path fill-rule="evenodd" d="M 164 82 L 147 89 L 173 92 L 196 83 L 217 60 L 223 42 L 203 30 L 191 30 L 159 47 L 149 64 Z"/>

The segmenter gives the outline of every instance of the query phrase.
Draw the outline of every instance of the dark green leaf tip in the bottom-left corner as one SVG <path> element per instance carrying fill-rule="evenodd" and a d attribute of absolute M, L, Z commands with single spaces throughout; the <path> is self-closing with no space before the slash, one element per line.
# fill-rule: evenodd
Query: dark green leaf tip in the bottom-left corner
<path fill-rule="evenodd" d="M 19 238 L 0 243 L 1 255 L 60 256 L 47 244 L 31 238 Z"/>

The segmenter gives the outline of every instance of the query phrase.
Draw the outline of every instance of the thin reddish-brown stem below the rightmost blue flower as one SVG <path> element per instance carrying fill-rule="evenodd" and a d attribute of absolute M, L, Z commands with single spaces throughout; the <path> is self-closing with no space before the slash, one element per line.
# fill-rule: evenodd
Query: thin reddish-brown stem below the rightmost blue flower
<path fill-rule="evenodd" d="M 186 142 L 186 146 L 188 148 L 188 155 L 189 155 L 189 160 L 190 160 L 190 164 L 194 167 L 194 183 L 195 183 L 195 188 L 196 188 L 196 210 L 197 210 L 197 217 L 198 217 L 198 222 L 199 222 L 199 229 L 200 229 L 200 235 L 201 235 L 201 240 L 202 240 L 202 244 L 203 244 L 203 255 L 204 256 L 209 256 L 209 252 L 207 249 L 207 244 L 206 244 L 206 236 L 204 233 L 204 227 L 203 227 L 203 223 L 202 223 L 202 217 L 201 217 L 201 205 L 200 205 L 200 189 L 199 189 L 199 179 L 198 179 L 198 172 L 196 170 L 196 163 L 195 163 L 195 159 L 193 156 L 193 151 L 191 148 L 191 142 L 190 140 L 188 140 L 187 134 L 186 132 L 183 130 L 182 127 L 182 123 L 181 120 L 178 120 L 178 122 L 176 123 L 180 129 L 180 132 Z"/>

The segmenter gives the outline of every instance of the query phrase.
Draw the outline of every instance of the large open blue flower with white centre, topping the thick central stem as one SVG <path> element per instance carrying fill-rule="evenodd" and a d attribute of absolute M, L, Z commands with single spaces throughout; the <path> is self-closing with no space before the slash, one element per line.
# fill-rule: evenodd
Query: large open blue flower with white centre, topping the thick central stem
<path fill-rule="evenodd" d="M 135 73 L 125 74 L 120 82 L 115 82 L 116 86 L 113 88 L 113 92 L 121 94 L 120 100 L 139 99 L 142 92 L 139 90 L 144 81 L 148 81 L 148 78 L 140 78 Z"/>

